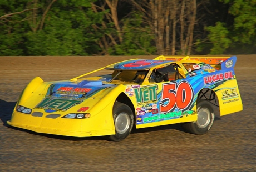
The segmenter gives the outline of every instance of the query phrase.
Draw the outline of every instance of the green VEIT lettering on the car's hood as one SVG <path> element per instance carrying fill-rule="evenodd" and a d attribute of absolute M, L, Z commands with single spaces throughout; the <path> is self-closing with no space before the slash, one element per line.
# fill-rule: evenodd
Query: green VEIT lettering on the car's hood
<path fill-rule="evenodd" d="M 51 109 L 51 110 L 67 110 L 73 105 L 80 104 L 82 100 L 67 100 L 67 99 L 52 99 L 52 98 L 45 98 L 36 105 L 35 108 L 43 108 L 43 109 Z"/>

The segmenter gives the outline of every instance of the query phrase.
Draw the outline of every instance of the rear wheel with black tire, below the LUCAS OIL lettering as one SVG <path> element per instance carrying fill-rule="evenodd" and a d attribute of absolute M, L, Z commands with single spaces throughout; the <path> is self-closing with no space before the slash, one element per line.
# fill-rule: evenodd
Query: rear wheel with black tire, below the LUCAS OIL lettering
<path fill-rule="evenodd" d="M 198 120 L 196 122 L 181 123 L 181 127 L 188 133 L 205 134 L 213 126 L 214 111 L 207 100 L 199 102 L 197 107 Z"/>

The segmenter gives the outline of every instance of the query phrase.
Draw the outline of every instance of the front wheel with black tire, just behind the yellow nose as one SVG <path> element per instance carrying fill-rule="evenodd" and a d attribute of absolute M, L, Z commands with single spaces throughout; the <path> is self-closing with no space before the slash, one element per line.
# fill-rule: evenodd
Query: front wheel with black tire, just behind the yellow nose
<path fill-rule="evenodd" d="M 107 139 L 111 141 L 124 140 L 131 133 L 134 124 L 134 116 L 131 108 L 124 103 L 115 102 L 113 119 L 116 134 L 107 136 Z"/>

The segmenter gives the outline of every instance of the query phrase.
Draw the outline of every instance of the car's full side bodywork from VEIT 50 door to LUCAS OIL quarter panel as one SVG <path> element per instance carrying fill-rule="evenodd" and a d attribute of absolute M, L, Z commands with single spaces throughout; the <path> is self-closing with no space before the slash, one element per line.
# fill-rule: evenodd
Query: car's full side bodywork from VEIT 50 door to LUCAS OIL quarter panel
<path fill-rule="evenodd" d="M 125 93 L 135 104 L 136 128 L 196 121 L 196 100 L 203 88 L 217 94 L 221 115 L 242 110 L 234 74 L 235 60 L 236 57 L 226 59 L 220 63 L 220 70 L 195 62 L 196 70 L 186 74 L 185 79 L 127 87 Z M 181 63 L 188 62 L 191 63 L 190 60 Z"/>

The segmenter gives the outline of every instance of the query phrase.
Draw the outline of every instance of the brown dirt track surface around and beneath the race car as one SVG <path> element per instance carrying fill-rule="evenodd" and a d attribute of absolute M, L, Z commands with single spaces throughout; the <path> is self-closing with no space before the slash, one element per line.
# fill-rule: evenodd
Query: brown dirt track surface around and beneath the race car
<path fill-rule="evenodd" d="M 215 118 L 205 135 L 179 124 L 134 129 L 115 143 L 8 127 L 31 79 L 71 79 L 125 59 L 146 57 L 0 57 L 0 171 L 256 171 L 256 55 L 237 55 L 242 112 Z"/>

